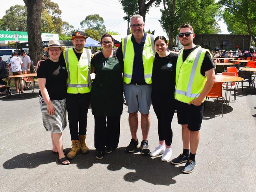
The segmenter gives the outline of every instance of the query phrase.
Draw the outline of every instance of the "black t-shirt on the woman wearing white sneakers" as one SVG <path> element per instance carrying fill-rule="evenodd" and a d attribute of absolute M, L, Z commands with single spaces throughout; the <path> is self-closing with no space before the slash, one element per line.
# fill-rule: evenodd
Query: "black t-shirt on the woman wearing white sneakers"
<path fill-rule="evenodd" d="M 152 72 L 152 101 L 171 102 L 174 100 L 175 74 L 178 54 L 170 52 L 166 57 L 157 53 Z"/>

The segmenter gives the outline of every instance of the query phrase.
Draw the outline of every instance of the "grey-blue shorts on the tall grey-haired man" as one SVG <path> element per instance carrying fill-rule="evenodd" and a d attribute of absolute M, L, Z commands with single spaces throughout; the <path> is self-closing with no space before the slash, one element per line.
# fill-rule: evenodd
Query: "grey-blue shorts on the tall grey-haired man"
<path fill-rule="evenodd" d="M 134 85 L 124 83 L 124 98 L 128 106 L 128 113 L 139 111 L 149 114 L 151 101 L 151 85 Z"/>

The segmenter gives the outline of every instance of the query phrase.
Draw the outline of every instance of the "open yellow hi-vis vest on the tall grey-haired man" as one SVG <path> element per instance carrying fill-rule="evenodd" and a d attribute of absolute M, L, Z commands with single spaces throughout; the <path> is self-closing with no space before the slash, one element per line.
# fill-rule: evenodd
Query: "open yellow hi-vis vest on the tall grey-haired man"
<path fill-rule="evenodd" d="M 134 46 L 132 34 L 122 38 L 122 53 L 124 59 L 124 83 L 129 84 L 132 80 L 132 69 L 134 65 Z M 154 36 L 147 33 L 143 46 L 142 61 L 144 66 L 144 78 L 147 84 L 152 83 L 152 68 L 155 58 Z"/>

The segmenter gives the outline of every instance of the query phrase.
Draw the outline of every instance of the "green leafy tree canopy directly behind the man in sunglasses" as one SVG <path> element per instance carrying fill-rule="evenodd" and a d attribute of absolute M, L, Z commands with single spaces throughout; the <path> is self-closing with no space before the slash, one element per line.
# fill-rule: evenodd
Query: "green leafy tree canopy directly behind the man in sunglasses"
<path fill-rule="evenodd" d="M 220 32 L 217 20 L 220 17 L 219 5 L 214 0 L 163 0 L 164 9 L 159 20 L 163 30 L 169 35 L 169 48 L 183 23 L 193 26 L 194 33 L 214 34 Z"/>

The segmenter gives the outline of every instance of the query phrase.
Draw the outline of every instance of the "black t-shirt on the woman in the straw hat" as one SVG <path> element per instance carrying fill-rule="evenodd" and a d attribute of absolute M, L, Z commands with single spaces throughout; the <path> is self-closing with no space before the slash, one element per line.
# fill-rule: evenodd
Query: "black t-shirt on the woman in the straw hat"
<path fill-rule="evenodd" d="M 61 58 L 61 56 L 59 58 Z M 67 77 L 66 65 L 61 59 L 59 59 L 58 62 L 46 59 L 41 62 L 37 70 L 37 78 L 46 79 L 45 87 L 51 100 L 62 100 L 66 98 Z M 39 95 L 42 96 L 41 91 L 39 91 Z"/>

